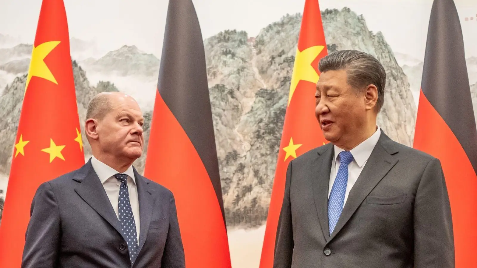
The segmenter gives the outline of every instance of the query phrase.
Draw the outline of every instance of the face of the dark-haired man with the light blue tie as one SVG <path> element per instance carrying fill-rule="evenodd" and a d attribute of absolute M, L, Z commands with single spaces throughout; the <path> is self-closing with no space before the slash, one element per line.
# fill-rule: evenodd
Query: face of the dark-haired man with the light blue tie
<path fill-rule="evenodd" d="M 353 140 L 366 120 L 366 97 L 346 81 L 345 70 L 322 72 L 316 84 L 315 115 L 326 140 L 344 144 Z"/>

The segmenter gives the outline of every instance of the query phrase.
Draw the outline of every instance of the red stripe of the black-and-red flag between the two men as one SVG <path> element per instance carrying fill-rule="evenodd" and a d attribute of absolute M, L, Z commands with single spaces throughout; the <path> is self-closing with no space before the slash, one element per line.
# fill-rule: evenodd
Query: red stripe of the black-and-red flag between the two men
<path fill-rule="evenodd" d="M 158 92 L 152 121 L 154 139 L 149 140 L 144 175 L 174 194 L 186 267 L 230 268 L 227 231 L 214 187 L 194 145 Z"/>

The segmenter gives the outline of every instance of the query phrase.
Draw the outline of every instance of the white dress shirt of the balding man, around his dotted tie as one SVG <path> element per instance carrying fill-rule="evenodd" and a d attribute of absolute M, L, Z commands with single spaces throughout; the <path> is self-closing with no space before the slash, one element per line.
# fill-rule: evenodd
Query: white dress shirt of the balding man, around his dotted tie
<path fill-rule="evenodd" d="M 118 172 L 109 165 L 106 165 L 103 162 L 99 161 L 94 157 L 94 155 L 91 157 L 91 165 L 93 165 L 94 171 L 96 172 L 99 177 L 99 180 L 103 184 L 104 191 L 106 191 L 106 195 L 111 202 L 111 206 L 113 206 L 114 212 L 116 213 L 116 217 L 118 217 L 119 219 L 118 198 L 121 182 L 119 182 L 114 177 L 114 175 L 121 172 Z M 136 180 L 134 177 L 133 166 L 131 165 L 123 174 L 127 175 L 127 189 L 129 193 L 129 201 L 131 202 L 131 208 L 133 209 L 133 216 L 136 224 L 137 241 L 139 241 L 139 200 L 137 198 L 137 187 Z"/>

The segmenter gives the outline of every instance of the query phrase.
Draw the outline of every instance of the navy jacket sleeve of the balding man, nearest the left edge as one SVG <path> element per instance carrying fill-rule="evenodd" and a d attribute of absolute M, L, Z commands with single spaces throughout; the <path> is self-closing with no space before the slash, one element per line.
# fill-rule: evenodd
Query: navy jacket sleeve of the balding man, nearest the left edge
<path fill-rule="evenodd" d="M 33 197 L 21 268 L 57 267 L 60 213 L 50 183 L 41 184 Z"/>

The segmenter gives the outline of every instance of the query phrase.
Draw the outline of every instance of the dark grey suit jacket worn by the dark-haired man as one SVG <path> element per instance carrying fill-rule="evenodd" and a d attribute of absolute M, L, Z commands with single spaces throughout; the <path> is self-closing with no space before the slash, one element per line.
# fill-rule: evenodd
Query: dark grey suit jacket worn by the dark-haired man
<path fill-rule="evenodd" d="M 330 235 L 333 154 L 330 143 L 290 162 L 273 268 L 455 268 L 438 159 L 382 132 Z"/>

